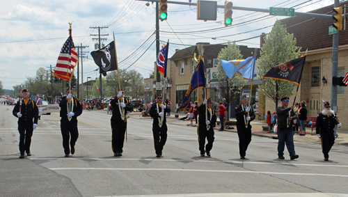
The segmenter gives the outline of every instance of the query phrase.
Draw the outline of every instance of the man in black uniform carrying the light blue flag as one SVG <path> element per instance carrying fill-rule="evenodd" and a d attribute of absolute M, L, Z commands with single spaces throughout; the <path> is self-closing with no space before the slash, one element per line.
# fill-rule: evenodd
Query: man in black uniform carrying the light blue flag
<path fill-rule="evenodd" d="M 248 98 L 242 95 L 241 104 L 235 107 L 235 115 L 237 119 L 237 133 L 239 138 L 239 155 L 241 159 L 245 159 L 246 149 L 251 142 L 251 125 L 250 122 L 255 119 L 253 108 L 247 105 Z"/>

